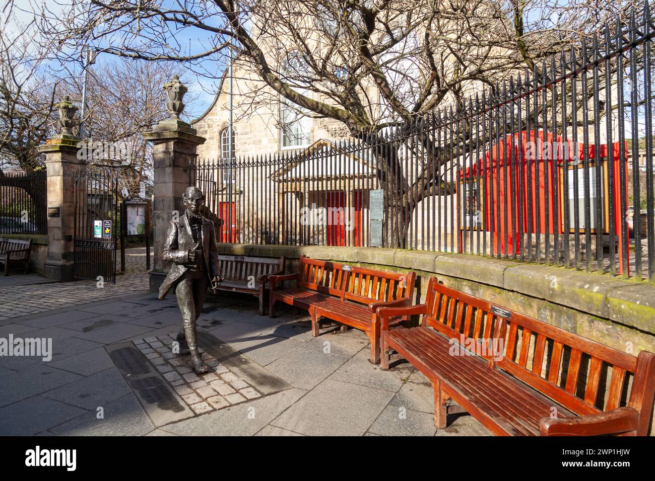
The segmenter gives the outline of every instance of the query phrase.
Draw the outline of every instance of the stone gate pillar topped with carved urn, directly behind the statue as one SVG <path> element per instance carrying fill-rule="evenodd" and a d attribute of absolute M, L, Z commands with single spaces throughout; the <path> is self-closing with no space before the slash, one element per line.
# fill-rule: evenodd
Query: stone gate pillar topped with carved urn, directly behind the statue
<path fill-rule="evenodd" d="M 159 286 L 169 265 L 164 264 L 162 248 L 170 221 L 184 213 L 182 194 L 189 185 L 195 185 L 193 170 L 189 166 L 196 160 L 196 148 L 204 143 L 191 124 L 180 120 L 184 110 L 183 98 L 187 86 L 174 75 L 163 86 L 168 102 L 166 109 L 170 115 L 145 132 L 143 138 L 153 143 L 153 228 L 155 249 L 153 269 L 150 274 L 150 290 L 159 291 Z"/>

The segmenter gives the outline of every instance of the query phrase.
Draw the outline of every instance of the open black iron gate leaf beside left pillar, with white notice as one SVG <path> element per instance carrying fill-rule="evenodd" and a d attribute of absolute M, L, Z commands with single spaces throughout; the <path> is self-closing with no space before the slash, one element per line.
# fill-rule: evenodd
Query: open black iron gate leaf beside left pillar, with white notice
<path fill-rule="evenodd" d="M 73 274 L 81 279 L 116 282 L 118 172 L 86 167 L 75 175 L 75 251 Z"/>

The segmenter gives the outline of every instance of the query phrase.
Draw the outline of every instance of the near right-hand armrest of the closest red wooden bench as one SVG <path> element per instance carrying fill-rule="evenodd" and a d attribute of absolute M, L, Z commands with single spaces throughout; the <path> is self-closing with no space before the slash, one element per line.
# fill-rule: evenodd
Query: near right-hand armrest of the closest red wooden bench
<path fill-rule="evenodd" d="M 580 418 L 542 418 L 539 431 L 542 436 L 598 436 L 635 431 L 638 425 L 639 411 L 625 407 Z"/>

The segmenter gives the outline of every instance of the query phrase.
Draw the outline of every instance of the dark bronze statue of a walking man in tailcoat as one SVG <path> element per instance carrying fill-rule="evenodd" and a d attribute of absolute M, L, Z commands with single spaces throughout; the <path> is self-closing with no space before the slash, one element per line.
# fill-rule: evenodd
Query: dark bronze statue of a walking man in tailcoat
<path fill-rule="evenodd" d="M 196 320 L 208 287 L 217 287 L 223 279 L 219 276 L 214 223 L 200 212 L 204 195 L 199 188 L 188 187 L 182 198 L 187 209 L 179 221 L 171 221 L 162 251 L 164 260 L 173 265 L 159 288 L 159 298 L 175 288 L 182 312 L 179 353 L 191 354 L 195 372 L 207 372 L 209 367 L 198 353 Z"/>

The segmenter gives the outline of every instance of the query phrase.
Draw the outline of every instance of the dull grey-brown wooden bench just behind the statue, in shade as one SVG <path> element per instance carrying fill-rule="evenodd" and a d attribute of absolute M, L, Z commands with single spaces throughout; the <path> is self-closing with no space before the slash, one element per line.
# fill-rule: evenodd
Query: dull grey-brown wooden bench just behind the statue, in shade
<path fill-rule="evenodd" d="M 259 315 L 264 315 L 266 281 L 272 274 L 284 274 L 284 256 L 271 258 L 219 255 L 218 266 L 219 276 L 223 277 L 218 290 L 257 296 Z"/>

